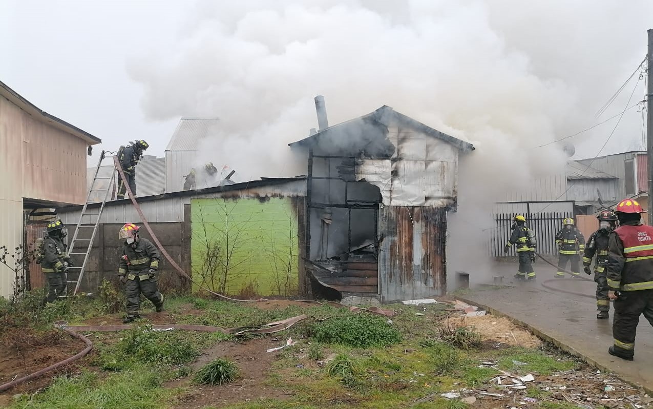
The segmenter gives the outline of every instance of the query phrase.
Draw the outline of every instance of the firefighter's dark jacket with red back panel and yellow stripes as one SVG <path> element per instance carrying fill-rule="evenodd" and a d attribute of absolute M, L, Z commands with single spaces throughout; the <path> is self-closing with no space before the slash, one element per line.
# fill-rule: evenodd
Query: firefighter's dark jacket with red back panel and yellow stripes
<path fill-rule="evenodd" d="M 653 289 L 653 227 L 627 222 L 610 233 L 607 279 L 613 291 Z"/>

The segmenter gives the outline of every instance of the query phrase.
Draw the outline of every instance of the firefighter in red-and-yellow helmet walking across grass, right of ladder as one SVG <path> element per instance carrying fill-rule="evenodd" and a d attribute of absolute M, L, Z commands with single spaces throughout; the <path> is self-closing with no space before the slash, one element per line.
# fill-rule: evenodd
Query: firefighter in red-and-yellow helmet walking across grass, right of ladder
<path fill-rule="evenodd" d="M 118 269 L 127 297 L 127 316 L 123 322 L 130 323 L 139 317 L 140 293 L 154 304 L 157 312 L 163 311 L 163 295 L 159 293 L 156 278 L 159 250 L 150 240 L 139 237 L 138 227 L 133 223 L 123 225 L 118 238 L 124 240 Z"/>

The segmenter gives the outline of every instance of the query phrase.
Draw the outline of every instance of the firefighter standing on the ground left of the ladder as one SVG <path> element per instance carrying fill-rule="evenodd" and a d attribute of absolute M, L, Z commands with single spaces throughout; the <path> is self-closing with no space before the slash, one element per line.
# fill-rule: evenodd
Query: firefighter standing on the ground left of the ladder
<path fill-rule="evenodd" d="M 68 286 L 66 272 L 72 267 L 70 257 L 66 254 L 63 238 L 67 235 L 66 226 L 61 220 L 48 223 L 48 235 L 43 239 L 43 260 L 41 271 L 48 281 L 48 295 L 42 304 L 54 303 L 65 296 Z"/>

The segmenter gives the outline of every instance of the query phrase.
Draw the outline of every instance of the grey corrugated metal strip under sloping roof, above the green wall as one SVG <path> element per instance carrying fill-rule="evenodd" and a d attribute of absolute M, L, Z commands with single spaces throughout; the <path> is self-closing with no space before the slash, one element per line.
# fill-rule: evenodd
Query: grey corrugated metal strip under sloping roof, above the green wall
<path fill-rule="evenodd" d="M 202 193 L 183 197 L 165 197 L 162 199 L 143 201 L 139 203 L 144 216 L 152 223 L 163 223 L 172 221 L 183 221 L 183 205 L 190 204 L 191 199 L 211 197 L 298 197 L 306 196 L 306 180 L 296 180 L 274 186 L 262 186 L 259 188 L 244 189 L 240 191 L 227 191 L 217 193 Z M 67 225 L 76 225 L 80 218 L 81 210 L 67 211 L 59 210 L 59 217 Z M 90 219 L 90 216 L 87 216 Z M 85 218 L 86 219 L 86 218 Z M 89 223 L 90 220 L 82 220 L 82 223 Z M 108 202 L 104 207 L 100 223 L 140 223 L 140 217 L 131 201 Z"/>

